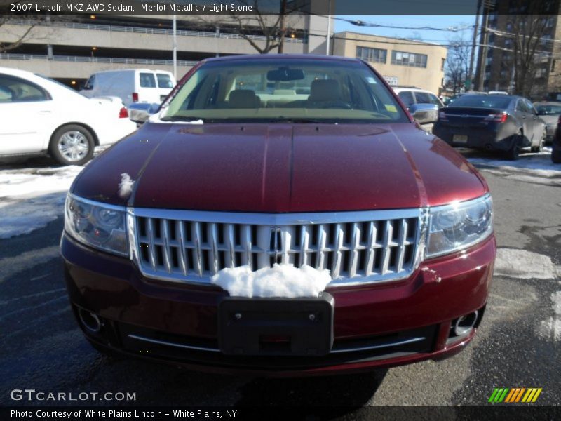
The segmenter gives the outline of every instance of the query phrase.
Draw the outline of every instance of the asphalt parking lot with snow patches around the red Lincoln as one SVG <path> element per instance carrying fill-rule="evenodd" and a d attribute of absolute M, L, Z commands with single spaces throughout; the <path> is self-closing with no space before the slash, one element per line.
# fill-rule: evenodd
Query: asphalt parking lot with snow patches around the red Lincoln
<path fill-rule="evenodd" d="M 48 159 L 4 165 L 0 403 L 50 403 L 11 400 L 12 389 L 29 388 L 136 394 L 135 402 L 95 402 L 102 405 L 481 406 L 494 387 L 541 387 L 537 403 L 561 405 L 561 166 L 546 150 L 515 162 L 463 152 L 492 190 L 499 246 L 485 318 L 464 352 L 438 363 L 297 380 L 201 374 L 97 354 L 71 314 L 58 258 L 65 191 L 80 168 Z"/>

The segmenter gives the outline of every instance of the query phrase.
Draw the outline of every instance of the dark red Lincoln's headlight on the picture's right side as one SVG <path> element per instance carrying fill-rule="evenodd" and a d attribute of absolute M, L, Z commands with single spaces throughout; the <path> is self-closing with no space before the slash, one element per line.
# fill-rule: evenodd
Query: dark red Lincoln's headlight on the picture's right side
<path fill-rule="evenodd" d="M 493 232 L 493 202 L 478 199 L 431 208 L 426 257 L 454 253 L 486 239 Z"/>

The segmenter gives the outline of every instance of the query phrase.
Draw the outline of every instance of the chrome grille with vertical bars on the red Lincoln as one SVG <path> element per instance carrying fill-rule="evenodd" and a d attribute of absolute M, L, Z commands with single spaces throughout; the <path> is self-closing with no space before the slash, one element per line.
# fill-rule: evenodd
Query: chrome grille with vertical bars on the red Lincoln
<path fill-rule="evenodd" d="M 226 267 L 329 269 L 331 285 L 391 281 L 417 265 L 424 210 L 248 214 L 132 209 L 132 254 L 144 275 L 210 283 Z M 248 223 L 251 222 L 251 223 Z M 424 234 L 423 234 L 424 237 Z"/>

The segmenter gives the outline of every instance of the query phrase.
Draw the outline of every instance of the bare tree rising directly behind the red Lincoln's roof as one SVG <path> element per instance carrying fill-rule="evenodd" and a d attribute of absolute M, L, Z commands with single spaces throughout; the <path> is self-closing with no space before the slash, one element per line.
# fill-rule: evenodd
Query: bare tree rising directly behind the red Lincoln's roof
<path fill-rule="evenodd" d="M 290 25 L 291 15 L 302 11 L 302 2 L 279 0 L 278 11 L 272 8 L 270 1 L 268 5 L 259 0 L 238 0 L 237 3 L 252 6 L 252 14 L 230 12 L 219 19 L 208 16 L 199 16 L 198 19 L 204 25 L 217 25 L 241 36 L 259 54 L 269 53 L 275 48 L 278 53 L 283 53 L 285 37 L 294 31 Z M 264 39 L 256 39 L 255 35 Z"/>

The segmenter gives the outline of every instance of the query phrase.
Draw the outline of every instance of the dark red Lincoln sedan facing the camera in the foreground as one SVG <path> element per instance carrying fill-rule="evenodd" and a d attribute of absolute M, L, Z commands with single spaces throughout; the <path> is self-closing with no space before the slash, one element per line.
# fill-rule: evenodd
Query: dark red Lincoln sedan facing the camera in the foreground
<path fill-rule="evenodd" d="M 492 279 L 492 213 L 482 176 L 367 63 L 231 56 L 196 65 L 78 175 L 60 250 L 103 352 L 318 375 L 463 349 Z"/>

